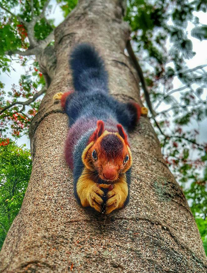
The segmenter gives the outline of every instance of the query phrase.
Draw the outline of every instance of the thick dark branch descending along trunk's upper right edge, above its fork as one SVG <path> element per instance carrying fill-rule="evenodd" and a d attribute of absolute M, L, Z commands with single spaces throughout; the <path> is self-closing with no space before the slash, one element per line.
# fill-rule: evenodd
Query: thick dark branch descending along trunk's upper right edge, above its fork
<path fill-rule="evenodd" d="M 156 117 L 157 113 L 152 108 L 152 104 L 151 104 L 151 101 L 150 101 L 150 95 L 149 95 L 148 88 L 147 88 L 146 83 L 145 83 L 142 68 L 140 67 L 140 65 L 139 65 L 139 63 L 137 61 L 137 58 L 136 58 L 135 53 L 134 53 L 134 51 L 132 49 L 132 45 L 131 45 L 130 40 L 127 41 L 126 47 L 127 47 L 127 51 L 129 53 L 129 56 L 130 56 L 132 62 L 134 63 L 134 66 L 136 68 L 138 76 L 140 78 L 140 82 L 142 84 L 142 89 L 143 89 L 144 94 L 145 94 L 145 100 L 146 100 L 147 106 L 150 109 L 150 112 L 151 112 L 151 114 L 152 114 L 152 116 L 154 118 L 154 117 Z"/>

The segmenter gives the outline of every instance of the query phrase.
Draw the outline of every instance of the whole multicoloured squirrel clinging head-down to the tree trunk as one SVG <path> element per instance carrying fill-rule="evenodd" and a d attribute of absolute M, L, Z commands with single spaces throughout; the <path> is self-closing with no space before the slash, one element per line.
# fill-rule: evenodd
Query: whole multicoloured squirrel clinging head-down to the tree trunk
<path fill-rule="evenodd" d="M 53 99 L 69 117 L 65 159 L 73 171 L 79 204 L 105 214 L 127 205 L 132 154 L 126 132 L 147 109 L 109 94 L 104 61 L 90 44 L 79 44 L 69 58 L 75 91 Z"/>

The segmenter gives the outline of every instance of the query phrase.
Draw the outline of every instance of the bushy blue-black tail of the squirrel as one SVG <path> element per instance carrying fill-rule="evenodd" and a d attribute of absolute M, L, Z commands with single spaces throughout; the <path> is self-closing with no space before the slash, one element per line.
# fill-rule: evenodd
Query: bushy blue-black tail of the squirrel
<path fill-rule="evenodd" d="M 92 45 L 78 45 L 70 55 L 69 64 L 76 91 L 99 89 L 108 92 L 108 73 L 104 61 Z"/>

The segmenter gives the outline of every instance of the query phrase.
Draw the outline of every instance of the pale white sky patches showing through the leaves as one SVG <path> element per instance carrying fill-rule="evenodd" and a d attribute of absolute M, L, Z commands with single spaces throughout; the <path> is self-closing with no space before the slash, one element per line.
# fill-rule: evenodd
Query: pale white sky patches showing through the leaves
<path fill-rule="evenodd" d="M 59 6 L 56 4 L 55 0 L 50 1 L 50 5 L 51 5 L 51 9 L 47 9 L 46 11 L 46 17 L 49 19 L 55 19 L 55 26 L 57 26 L 59 23 L 62 22 L 63 20 L 63 15 L 62 15 L 62 10 L 59 8 Z M 18 10 L 13 10 L 13 12 L 17 13 Z M 206 14 L 204 12 L 194 12 L 194 15 L 196 15 L 197 17 L 199 17 L 200 23 L 206 24 Z M 171 22 L 169 22 L 170 24 Z M 187 33 L 188 33 L 188 38 L 190 40 L 192 40 L 193 42 L 193 51 L 196 52 L 196 55 L 189 60 L 186 60 L 186 63 L 188 65 L 189 68 L 194 68 L 195 66 L 198 65 L 203 65 L 205 63 L 207 63 L 207 53 L 206 53 L 206 48 L 207 48 L 207 40 L 203 40 L 200 41 L 196 38 L 193 38 L 190 33 L 192 28 L 194 27 L 193 24 L 191 24 L 190 22 L 188 23 L 187 26 Z M 167 42 L 167 48 L 170 48 L 170 42 Z M 15 59 L 15 57 L 14 57 Z M 29 63 L 33 63 L 33 60 L 31 60 Z M 20 75 L 25 73 L 25 68 L 20 66 L 20 64 L 16 63 L 16 61 L 12 62 L 12 68 L 14 68 L 14 70 L 11 71 L 10 75 L 7 75 L 6 73 L 2 73 L 0 75 L 0 80 L 5 84 L 5 91 L 10 91 L 12 84 L 17 84 L 19 82 L 20 79 Z M 174 81 L 173 81 L 173 86 L 174 89 L 177 89 L 181 86 L 183 86 L 183 84 L 175 77 Z M 205 90 L 203 93 L 202 98 L 206 99 L 206 95 L 207 95 L 207 91 Z M 180 97 L 180 93 L 174 93 L 174 96 L 179 100 Z M 164 102 L 161 103 L 161 105 L 158 108 L 158 112 L 162 111 L 164 109 L 168 109 L 170 107 L 169 104 L 165 104 Z M 192 121 L 190 124 L 190 127 L 197 129 L 200 134 L 198 135 L 197 141 L 198 143 L 201 143 L 203 141 L 205 141 L 207 139 L 207 120 L 205 119 L 203 122 L 197 123 L 195 121 Z M 189 126 L 188 126 L 189 128 Z M 18 139 L 17 142 L 19 145 L 26 143 L 27 148 L 29 148 L 30 146 L 30 142 L 27 136 L 23 136 L 22 138 Z"/>

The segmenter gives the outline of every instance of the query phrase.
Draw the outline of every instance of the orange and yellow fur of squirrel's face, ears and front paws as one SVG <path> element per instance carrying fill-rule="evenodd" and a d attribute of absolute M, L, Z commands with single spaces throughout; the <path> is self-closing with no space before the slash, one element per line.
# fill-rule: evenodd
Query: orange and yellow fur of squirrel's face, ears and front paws
<path fill-rule="evenodd" d="M 124 206 L 124 202 L 128 195 L 128 185 L 125 173 L 132 165 L 132 154 L 127 142 L 127 135 L 121 125 L 117 125 L 117 128 L 119 132 L 111 133 L 104 130 L 104 122 L 97 122 L 97 128 L 91 136 L 88 146 L 82 153 L 82 161 L 85 165 L 85 169 L 78 179 L 76 186 L 81 204 L 84 207 L 91 206 L 98 212 L 101 212 L 103 205 L 101 197 L 104 192 L 101 190 L 101 187 L 108 189 L 106 214 Z M 106 151 L 101 145 L 103 138 L 109 134 L 116 135 L 122 143 L 120 151 L 116 153 L 116 156 L 111 158 L 107 156 Z M 92 157 L 94 150 L 96 151 L 97 159 L 93 159 Z M 126 155 L 129 156 L 129 160 L 124 163 Z M 112 180 L 109 180 L 110 182 L 108 182 L 108 185 L 97 184 L 98 177 L 93 175 L 93 171 L 96 170 L 98 176 L 101 179 L 106 180 L 106 177 L 104 177 L 104 170 L 112 168 L 113 171 L 115 170 L 116 175 Z"/>

